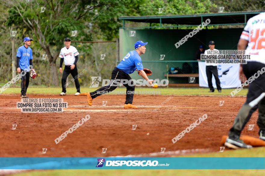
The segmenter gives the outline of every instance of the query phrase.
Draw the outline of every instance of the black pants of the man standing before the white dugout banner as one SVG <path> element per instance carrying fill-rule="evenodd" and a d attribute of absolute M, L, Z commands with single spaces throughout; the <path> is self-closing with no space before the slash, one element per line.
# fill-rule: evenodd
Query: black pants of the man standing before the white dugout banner
<path fill-rule="evenodd" d="M 220 80 L 218 77 L 217 66 L 206 66 L 206 76 L 207 76 L 207 80 L 208 80 L 208 87 L 212 91 L 214 91 L 214 87 L 213 87 L 213 83 L 212 83 L 213 75 L 214 75 L 214 79 L 216 82 L 217 90 L 222 90 L 221 85 L 220 85 Z"/>

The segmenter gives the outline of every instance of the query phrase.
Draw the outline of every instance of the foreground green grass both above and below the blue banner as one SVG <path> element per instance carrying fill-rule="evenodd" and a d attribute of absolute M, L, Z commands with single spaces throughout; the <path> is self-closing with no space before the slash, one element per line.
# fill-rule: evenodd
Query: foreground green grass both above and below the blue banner
<path fill-rule="evenodd" d="M 258 147 L 252 149 L 240 149 L 240 150 L 226 150 L 224 152 L 216 152 L 216 153 L 209 153 L 209 154 L 194 154 L 194 155 L 185 155 L 185 156 L 177 156 L 177 157 L 265 157 L 265 147 Z M 85 175 L 93 175 L 93 176 L 138 176 L 138 175 L 145 175 L 145 176 L 160 176 L 160 175 L 167 175 L 167 176 L 175 176 L 175 175 L 197 175 L 197 176 L 205 176 L 205 175 L 214 175 L 214 176 L 230 176 L 230 175 L 257 175 L 263 176 L 264 170 L 230 170 L 230 169 L 160 169 L 160 170 L 145 170 L 145 169 L 130 169 L 130 170 L 118 170 L 118 169 L 110 169 L 110 170 L 86 170 L 86 169 L 69 169 L 69 170 L 43 170 L 43 171 L 31 171 L 26 173 L 17 174 L 18 176 L 42 176 L 42 175 L 49 175 L 49 176 L 85 176 Z"/>

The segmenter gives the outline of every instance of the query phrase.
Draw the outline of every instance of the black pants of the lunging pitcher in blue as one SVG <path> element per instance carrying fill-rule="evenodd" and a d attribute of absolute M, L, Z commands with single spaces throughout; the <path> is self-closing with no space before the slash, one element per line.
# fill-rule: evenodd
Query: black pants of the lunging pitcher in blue
<path fill-rule="evenodd" d="M 120 82 L 120 79 L 126 79 L 126 80 L 131 80 L 132 78 L 129 76 L 129 74 L 125 73 L 124 71 L 118 69 L 117 67 L 115 67 L 112 70 L 111 73 L 111 82 L 109 85 L 101 87 L 99 89 L 97 89 L 94 92 L 90 92 L 91 97 L 94 99 L 95 97 L 98 97 L 99 95 L 102 95 L 104 93 L 107 92 L 111 92 L 113 90 L 115 90 L 119 85 L 117 84 L 113 84 L 114 80 L 119 79 L 119 81 L 117 80 L 117 82 Z M 131 82 L 131 84 L 133 84 L 133 82 Z M 126 101 L 125 104 L 132 104 L 133 103 L 133 91 L 135 90 L 135 85 L 131 86 L 129 84 L 123 84 L 126 87 Z"/>

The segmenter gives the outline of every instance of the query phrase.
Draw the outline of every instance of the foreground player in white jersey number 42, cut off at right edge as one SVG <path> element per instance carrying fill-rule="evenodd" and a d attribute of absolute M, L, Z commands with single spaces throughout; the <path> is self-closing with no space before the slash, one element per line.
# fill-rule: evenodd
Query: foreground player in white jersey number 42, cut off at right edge
<path fill-rule="evenodd" d="M 247 49 L 246 49 L 246 46 Z M 251 148 L 239 136 L 249 121 L 251 114 L 258 107 L 257 124 L 260 128 L 259 138 L 265 140 L 265 13 L 260 13 L 247 22 L 242 32 L 238 50 L 246 49 L 250 55 L 247 64 L 240 65 L 239 76 L 241 82 L 248 86 L 247 100 L 239 110 L 225 145 L 229 148 Z"/>

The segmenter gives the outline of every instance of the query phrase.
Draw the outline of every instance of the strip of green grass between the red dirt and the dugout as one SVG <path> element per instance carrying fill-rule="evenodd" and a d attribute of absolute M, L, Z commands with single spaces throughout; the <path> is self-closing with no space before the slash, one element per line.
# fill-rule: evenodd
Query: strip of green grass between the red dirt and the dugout
<path fill-rule="evenodd" d="M 27 94 L 60 94 L 61 87 L 33 87 L 30 86 L 27 90 Z M 81 87 L 81 92 L 95 91 L 96 88 Z M 230 92 L 234 89 L 223 89 L 222 93 L 218 93 L 217 90 L 213 93 L 209 93 L 208 88 L 140 88 L 136 87 L 135 91 L 160 91 L 161 95 L 211 95 L 211 96 L 231 96 Z M 116 88 L 115 91 L 126 91 L 126 88 Z M 243 89 L 236 96 L 245 96 L 248 89 Z M 2 92 L 2 94 L 19 94 L 20 87 L 10 87 Z M 67 88 L 67 94 L 76 93 L 76 88 Z"/>

